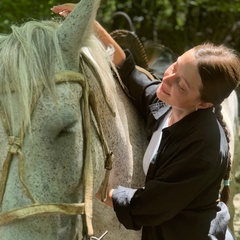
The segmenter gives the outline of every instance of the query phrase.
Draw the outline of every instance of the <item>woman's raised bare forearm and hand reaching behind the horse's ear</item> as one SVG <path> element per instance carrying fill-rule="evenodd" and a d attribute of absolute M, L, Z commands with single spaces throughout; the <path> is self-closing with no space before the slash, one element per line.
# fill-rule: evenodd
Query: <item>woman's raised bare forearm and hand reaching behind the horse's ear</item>
<path fill-rule="evenodd" d="M 60 16 L 67 17 L 74 9 L 76 4 L 66 3 L 58 6 L 54 6 L 51 10 Z M 108 34 L 108 32 L 97 22 L 94 22 L 94 31 L 97 37 L 106 47 L 113 47 L 115 49 L 113 62 L 116 66 L 121 66 L 125 61 L 126 56 L 122 48 L 115 42 L 115 40 Z"/>

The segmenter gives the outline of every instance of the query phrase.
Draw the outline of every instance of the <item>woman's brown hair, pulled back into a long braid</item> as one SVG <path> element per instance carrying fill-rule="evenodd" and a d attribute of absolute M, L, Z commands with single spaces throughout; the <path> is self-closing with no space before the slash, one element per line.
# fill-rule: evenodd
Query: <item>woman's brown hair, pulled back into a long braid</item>
<path fill-rule="evenodd" d="M 221 113 L 221 103 L 239 85 L 240 59 L 236 51 L 224 45 L 206 43 L 194 48 L 198 71 L 202 80 L 201 100 L 214 105 L 215 114 L 222 125 L 229 143 L 229 132 Z M 224 180 L 229 180 L 231 173 L 231 156 L 228 155 L 228 166 Z M 229 198 L 229 186 L 224 186 L 221 200 Z"/>

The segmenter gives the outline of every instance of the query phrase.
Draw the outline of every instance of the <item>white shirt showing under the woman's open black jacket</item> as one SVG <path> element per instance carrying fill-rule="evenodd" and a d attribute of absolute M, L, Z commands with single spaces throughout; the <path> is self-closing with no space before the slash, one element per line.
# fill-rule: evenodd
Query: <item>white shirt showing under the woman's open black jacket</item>
<path fill-rule="evenodd" d="M 149 164 L 152 161 L 153 157 L 155 156 L 159 148 L 159 145 L 162 139 L 162 129 L 168 127 L 168 119 L 169 119 L 170 113 L 171 111 L 167 113 L 167 115 L 159 125 L 158 129 L 153 133 L 152 138 L 148 144 L 147 150 L 143 157 L 143 170 L 145 175 L 147 175 Z"/>

